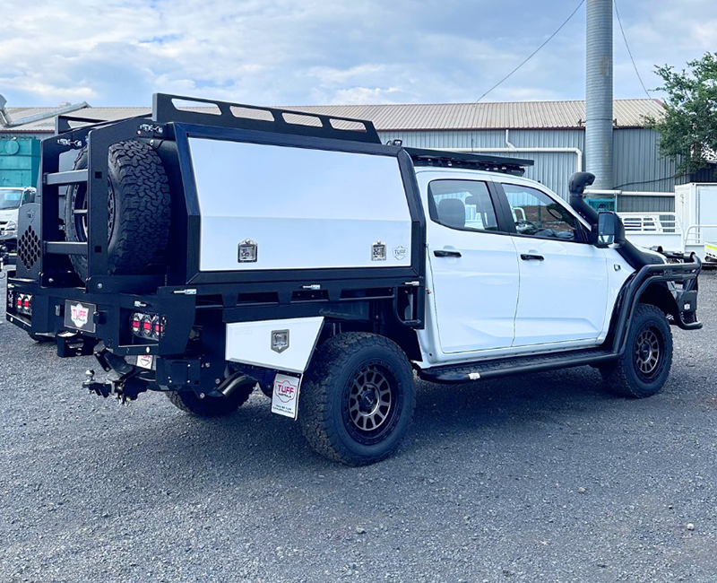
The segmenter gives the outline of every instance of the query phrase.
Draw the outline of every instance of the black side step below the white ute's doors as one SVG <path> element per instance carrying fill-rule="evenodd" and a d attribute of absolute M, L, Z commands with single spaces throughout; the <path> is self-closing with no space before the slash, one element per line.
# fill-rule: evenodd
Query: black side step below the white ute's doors
<path fill-rule="evenodd" d="M 520 356 L 490 361 L 462 362 L 420 370 L 419 377 L 434 383 L 465 383 L 471 380 L 507 377 L 540 370 L 566 369 L 585 364 L 600 364 L 618 358 L 615 352 L 599 348 L 570 352 L 553 352 L 536 356 Z"/>

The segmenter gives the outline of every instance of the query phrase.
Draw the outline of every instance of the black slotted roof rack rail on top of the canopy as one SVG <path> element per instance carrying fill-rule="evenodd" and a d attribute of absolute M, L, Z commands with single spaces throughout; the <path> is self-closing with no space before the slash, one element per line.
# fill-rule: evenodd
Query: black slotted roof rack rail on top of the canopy
<path fill-rule="evenodd" d="M 197 110 L 199 108 L 206 110 Z M 366 119 L 263 108 L 169 93 L 154 94 L 152 120 L 158 124 L 178 122 L 381 144 L 376 127 Z"/>

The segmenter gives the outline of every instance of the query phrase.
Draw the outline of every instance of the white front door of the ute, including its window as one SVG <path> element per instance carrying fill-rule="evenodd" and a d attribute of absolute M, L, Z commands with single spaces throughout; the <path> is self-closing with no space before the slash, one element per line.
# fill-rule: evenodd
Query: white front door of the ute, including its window
<path fill-rule="evenodd" d="M 502 184 L 520 265 L 514 346 L 596 341 L 607 301 L 607 258 L 566 207 L 537 188 Z"/>

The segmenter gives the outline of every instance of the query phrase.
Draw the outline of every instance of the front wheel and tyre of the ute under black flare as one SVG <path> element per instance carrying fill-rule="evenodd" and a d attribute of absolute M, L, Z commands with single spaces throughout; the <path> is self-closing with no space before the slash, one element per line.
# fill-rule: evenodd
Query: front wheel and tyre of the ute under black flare
<path fill-rule="evenodd" d="M 632 398 L 656 395 L 672 365 L 672 332 L 664 312 L 640 304 L 627 332 L 626 348 L 618 361 L 600 367 L 612 393 Z"/>

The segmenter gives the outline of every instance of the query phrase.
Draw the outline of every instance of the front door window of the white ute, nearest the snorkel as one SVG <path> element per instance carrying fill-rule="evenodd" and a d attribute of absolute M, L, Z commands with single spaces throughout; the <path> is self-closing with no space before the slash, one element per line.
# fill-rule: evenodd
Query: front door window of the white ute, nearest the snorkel
<path fill-rule="evenodd" d="M 574 216 L 544 192 L 517 184 L 504 184 L 503 190 L 513 213 L 515 231 L 519 235 L 579 240 Z"/>

